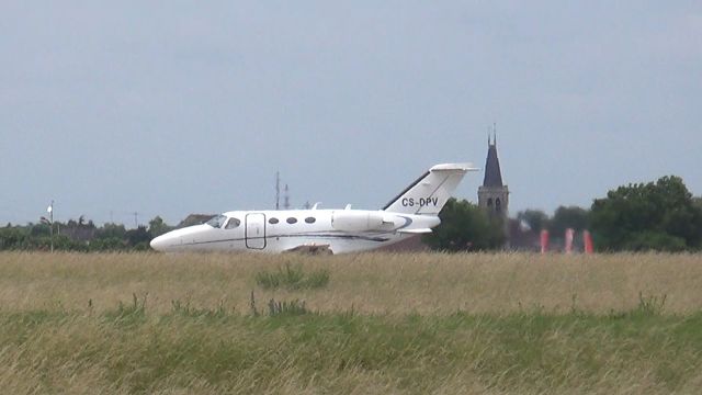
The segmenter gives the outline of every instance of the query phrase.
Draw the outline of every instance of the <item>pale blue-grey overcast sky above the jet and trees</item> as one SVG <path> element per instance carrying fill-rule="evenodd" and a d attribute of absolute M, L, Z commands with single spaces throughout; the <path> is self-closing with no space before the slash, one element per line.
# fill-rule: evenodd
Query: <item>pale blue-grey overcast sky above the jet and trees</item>
<path fill-rule="evenodd" d="M 512 214 L 702 194 L 699 0 L 5 0 L 0 60 L 1 224 L 377 208 L 492 123 Z"/>

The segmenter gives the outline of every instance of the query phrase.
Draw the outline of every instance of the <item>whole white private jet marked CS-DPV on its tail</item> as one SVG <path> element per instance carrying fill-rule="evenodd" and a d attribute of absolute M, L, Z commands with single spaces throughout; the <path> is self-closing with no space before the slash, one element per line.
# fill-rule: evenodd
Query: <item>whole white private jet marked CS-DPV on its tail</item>
<path fill-rule="evenodd" d="M 430 233 L 468 163 L 437 165 L 383 210 L 233 211 L 151 240 L 158 251 L 268 251 L 322 247 L 333 253 L 388 246 Z"/>

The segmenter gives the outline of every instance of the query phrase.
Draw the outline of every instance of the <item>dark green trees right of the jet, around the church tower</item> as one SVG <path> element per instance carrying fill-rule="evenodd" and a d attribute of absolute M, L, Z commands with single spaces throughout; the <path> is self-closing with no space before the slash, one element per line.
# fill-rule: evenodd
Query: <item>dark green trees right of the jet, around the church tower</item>
<path fill-rule="evenodd" d="M 480 251 L 505 246 L 503 219 L 490 217 L 473 203 L 452 199 L 439 216 L 441 225 L 423 238 L 432 249 Z M 563 239 L 567 228 L 588 229 L 602 252 L 702 249 L 702 198 L 694 198 L 675 176 L 619 187 L 587 208 L 561 206 L 553 216 L 525 210 L 516 219 L 534 233 L 548 230 L 556 240 Z"/>

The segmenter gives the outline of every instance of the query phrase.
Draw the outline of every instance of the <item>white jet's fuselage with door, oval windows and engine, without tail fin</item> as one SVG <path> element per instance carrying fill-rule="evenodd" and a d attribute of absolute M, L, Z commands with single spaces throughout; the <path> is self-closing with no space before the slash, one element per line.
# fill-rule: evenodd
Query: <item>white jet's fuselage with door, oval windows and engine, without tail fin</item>
<path fill-rule="evenodd" d="M 439 225 L 435 215 L 365 210 L 233 211 L 206 224 L 159 236 L 159 251 L 282 252 L 299 246 L 328 246 L 335 253 L 392 245 Z"/>

